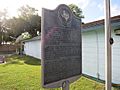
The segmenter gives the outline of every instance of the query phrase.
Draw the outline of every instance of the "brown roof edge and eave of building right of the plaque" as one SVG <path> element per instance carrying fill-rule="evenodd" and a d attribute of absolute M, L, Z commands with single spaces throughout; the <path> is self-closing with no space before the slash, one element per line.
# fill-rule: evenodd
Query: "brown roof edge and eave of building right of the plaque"
<path fill-rule="evenodd" d="M 111 17 L 111 23 L 112 24 L 119 23 L 119 26 L 120 26 L 120 15 Z M 85 24 L 82 24 L 81 26 L 82 26 L 82 31 L 88 31 L 88 29 L 92 29 L 94 27 L 99 27 L 99 26 L 104 27 L 104 19 L 85 23 Z"/>

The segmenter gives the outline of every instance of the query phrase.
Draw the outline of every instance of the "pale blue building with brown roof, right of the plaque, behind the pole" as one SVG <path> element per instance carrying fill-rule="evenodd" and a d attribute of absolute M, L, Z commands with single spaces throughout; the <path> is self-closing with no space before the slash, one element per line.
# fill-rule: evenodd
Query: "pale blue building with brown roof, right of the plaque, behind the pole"
<path fill-rule="evenodd" d="M 120 15 L 111 19 L 112 82 L 120 84 Z M 83 73 L 105 80 L 105 31 L 104 21 L 94 21 L 82 26 Z"/>

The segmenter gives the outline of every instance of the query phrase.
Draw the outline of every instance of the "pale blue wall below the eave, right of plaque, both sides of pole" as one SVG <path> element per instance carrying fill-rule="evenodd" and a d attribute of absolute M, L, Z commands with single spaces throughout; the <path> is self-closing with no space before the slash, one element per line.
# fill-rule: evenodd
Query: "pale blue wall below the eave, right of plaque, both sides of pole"
<path fill-rule="evenodd" d="M 112 32 L 112 82 L 120 83 L 120 36 Z M 104 31 L 87 31 L 82 33 L 83 73 L 105 80 L 105 46 Z"/>

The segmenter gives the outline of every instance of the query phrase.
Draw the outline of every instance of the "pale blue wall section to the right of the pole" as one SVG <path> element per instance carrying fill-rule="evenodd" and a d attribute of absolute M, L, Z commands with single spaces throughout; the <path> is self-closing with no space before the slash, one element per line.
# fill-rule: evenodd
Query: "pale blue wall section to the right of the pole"
<path fill-rule="evenodd" d="M 114 44 L 112 45 L 112 75 L 113 82 L 120 84 L 120 36 L 112 33 Z"/>

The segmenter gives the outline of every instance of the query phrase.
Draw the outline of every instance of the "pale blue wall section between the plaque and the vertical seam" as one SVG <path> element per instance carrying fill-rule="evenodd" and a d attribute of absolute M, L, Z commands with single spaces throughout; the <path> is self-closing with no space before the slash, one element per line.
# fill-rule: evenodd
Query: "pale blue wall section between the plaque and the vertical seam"
<path fill-rule="evenodd" d="M 96 77 L 97 43 L 94 31 L 82 33 L 83 73 Z"/>

